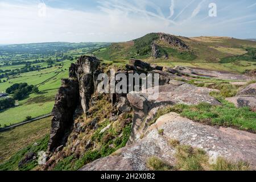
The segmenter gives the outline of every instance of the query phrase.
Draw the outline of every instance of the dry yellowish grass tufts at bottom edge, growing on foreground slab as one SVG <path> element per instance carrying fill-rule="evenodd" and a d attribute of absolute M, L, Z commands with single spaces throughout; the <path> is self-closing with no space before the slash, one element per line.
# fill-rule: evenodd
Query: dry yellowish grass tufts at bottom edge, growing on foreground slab
<path fill-rule="evenodd" d="M 176 140 L 175 140 L 176 141 Z M 194 148 L 188 145 L 181 145 L 175 142 L 175 164 L 164 162 L 162 159 L 151 156 L 147 159 L 146 166 L 151 171 L 248 171 L 249 163 L 229 162 L 218 157 L 216 164 L 209 164 L 207 152 L 200 148 Z"/>

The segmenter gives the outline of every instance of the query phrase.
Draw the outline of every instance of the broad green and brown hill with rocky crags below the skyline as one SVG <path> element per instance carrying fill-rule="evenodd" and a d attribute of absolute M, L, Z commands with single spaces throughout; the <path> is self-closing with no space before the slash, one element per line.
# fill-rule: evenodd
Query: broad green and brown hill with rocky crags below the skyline
<path fill-rule="evenodd" d="M 100 59 L 116 62 L 136 58 L 154 60 L 154 62 L 227 63 L 234 59 L 256 61 L 255 57 L 251 56 L 255 52 L 256 42 L 249 40 L 217 36 L 186 38 L 164 33 L 151 33 L 129 42 L 113 43 L 104 49 L 93 52 L 93 55 Z"/>

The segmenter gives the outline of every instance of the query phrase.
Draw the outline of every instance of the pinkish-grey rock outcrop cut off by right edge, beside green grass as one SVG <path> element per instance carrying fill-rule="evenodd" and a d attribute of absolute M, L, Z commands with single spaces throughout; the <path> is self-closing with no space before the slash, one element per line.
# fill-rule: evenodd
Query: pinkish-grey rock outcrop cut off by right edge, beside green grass
<path fill-rule="evenodd" d="M 238 92 L 236 97 L 226 98 L 237 107 L 250 107 L 256 111 L 256 84 L 250 84 Z"/>

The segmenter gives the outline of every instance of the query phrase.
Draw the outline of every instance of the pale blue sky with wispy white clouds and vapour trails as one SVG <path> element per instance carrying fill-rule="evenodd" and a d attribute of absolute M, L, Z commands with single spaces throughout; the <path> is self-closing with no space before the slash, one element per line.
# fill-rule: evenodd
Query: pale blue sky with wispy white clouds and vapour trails
<path fill-rule="evenodd" d="M 0 0 L 0 44 L 123 42 L 150 32 L 256 38 L 256 1 Z"/>

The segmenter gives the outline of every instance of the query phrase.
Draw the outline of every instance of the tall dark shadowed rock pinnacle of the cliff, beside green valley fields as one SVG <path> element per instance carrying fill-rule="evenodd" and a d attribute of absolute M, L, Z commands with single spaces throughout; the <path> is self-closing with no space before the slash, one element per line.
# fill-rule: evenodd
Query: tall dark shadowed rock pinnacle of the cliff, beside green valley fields
<path fill-rule="evenodd" d="M 96 57 L 81 56 L 76 64 L 69 68 L 69 79 L 61 80 L 61 87 L 55 97 L 52 110 L 52 128 L 48 151 L 64 146 L 73 125 L 75 111 L 89 109 L 90 97 L 97 85 L 100 60 Z M 81 110 L 81 109 L 80 109 Z"/>

